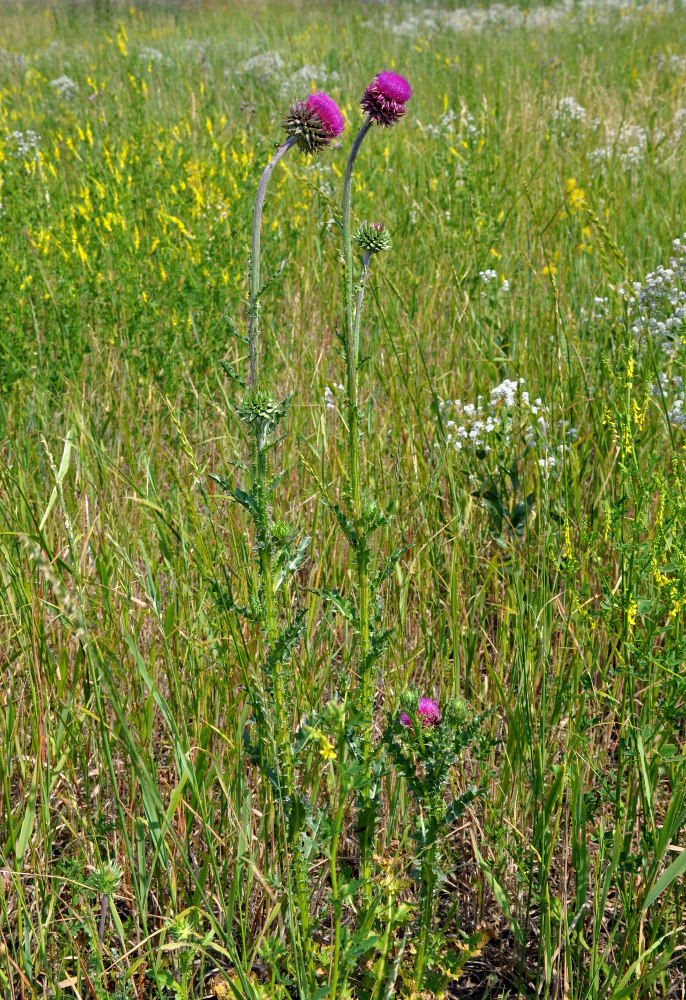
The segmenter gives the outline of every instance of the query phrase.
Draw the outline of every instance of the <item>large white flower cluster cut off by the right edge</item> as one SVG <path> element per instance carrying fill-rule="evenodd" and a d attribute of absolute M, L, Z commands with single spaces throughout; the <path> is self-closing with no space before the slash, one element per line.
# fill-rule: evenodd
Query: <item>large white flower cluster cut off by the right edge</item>
<path fill-rule="evenodd" d="M 651 338 L 666 351 L 674 352 L 686 336 L 686 233 L 674 240 L 669 267 L 661 264 L 634 282 L 634 300 L 629 303 L 631 331 L 640 341 Z"/>

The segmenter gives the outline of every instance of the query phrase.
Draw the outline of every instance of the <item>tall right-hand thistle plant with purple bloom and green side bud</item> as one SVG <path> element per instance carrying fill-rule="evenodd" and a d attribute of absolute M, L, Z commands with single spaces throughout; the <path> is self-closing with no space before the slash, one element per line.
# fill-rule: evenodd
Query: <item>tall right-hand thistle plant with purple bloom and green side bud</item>
<path fill-rule="evenodd" d="M 355 234 L 351 231 L 351 183 L 353 167 L 362 142 L 374 124 L 382 127 L 395 125 L 405 114 L 405 105 L 412 96 L 412 88 L 407 80 L 396 73 L 379 73 L 368 85 L 360 105 L 366 113 L 364 122 L 350 150 L 343 185 L 343 348 L 346 366 L 346 410 L 348 430 L 346 502 L 349 516 L 336 508 L 336 516 L 348 543 L 355 553 L 355 570 L 358 609 L 353 619 L 359 635 L 357 678 L 360 695 L 360 710 L 363 718 L 361 727 L 360 755 L 363 764 L 363 785 L 360 793 L 358 830 L 360 838 L 360 878 L 363 893 L 371 899 L 371 859 L 376 823 L 378 782 L 374 775 L 372 719 L 374 712 L 374 664 L 382 655 L 390 631 L 377 628 L 372 623 L 374 591 L 385 579 L 382 571 L 375 579 L 370 576 L 372 551 L 370 535 L 387 521 L 376 500 L 367 496 L 362 488 L 360 475 L 360 324 L 364 286 L 369 270 L 369 261 L 374 253 L 388 249 L 390 238 L 380 223 L 366 223 Z M 353 245 L 362 252 L 362 271 L 355 280 Z M 356 293 L 357 287 L 357 293 Z M 392 568 L 392 564 L 391 564 Z M 388 570 L 390 573 L 390 569 Z M 352 605 L 351 605 L 352 607 Z"/>

